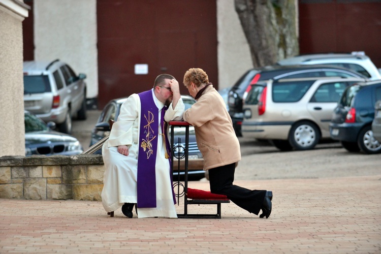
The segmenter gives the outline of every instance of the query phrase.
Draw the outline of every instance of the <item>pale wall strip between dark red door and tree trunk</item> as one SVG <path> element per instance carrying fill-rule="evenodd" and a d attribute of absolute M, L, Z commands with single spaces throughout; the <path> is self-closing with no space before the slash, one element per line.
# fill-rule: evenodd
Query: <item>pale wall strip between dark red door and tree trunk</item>
<path fill-rule="evenodd" d="M 221 90 L 233 86 L 253 67 L 234 0 L 217 0 L 217 41 L 218 85 Z"/>

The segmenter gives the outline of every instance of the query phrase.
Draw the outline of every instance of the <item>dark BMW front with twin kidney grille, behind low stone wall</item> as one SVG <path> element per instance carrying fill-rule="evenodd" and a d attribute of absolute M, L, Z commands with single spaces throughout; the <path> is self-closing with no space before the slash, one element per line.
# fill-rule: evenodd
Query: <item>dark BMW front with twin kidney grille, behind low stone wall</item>
<path fill-rule="evenodd" d="M 83 152 L 79 141 L 68 134 L 59 133 L 54 122 L 45 124 L 36 115 L 24 112 L 25 156 L 75 155 Z"/>

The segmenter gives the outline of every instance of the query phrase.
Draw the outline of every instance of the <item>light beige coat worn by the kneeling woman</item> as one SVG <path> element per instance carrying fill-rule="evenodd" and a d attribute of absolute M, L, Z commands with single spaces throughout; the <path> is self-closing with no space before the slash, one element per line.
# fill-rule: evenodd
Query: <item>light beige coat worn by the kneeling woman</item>
<path fill-rule="evenodd" d="M 204 170 L 241 160 L 239 141 L 223 98 L 209 85 L 198 101 L 184 112 L 184 121 L 195 126 Z"/>

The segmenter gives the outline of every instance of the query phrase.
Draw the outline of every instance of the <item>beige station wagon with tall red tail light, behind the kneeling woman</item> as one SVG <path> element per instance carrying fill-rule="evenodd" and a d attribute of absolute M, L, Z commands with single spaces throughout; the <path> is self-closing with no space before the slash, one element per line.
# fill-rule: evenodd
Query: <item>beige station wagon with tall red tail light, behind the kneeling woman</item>
<path fill-rule="evenodd" d="M 258 82 L 243 105 L 242 136 L 270 140 L 283 151 L 312 149 L 330 138 L 343 90 L 362 78 L 298 78 Z"/>

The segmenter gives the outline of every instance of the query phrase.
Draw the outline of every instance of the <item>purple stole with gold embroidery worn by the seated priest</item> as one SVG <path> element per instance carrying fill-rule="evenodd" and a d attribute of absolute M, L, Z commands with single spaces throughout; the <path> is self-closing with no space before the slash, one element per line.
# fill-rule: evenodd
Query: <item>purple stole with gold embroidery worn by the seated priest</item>
<path fill-rule="evenodd" d="M 152 97 L 152 91 L 144 91 L 138 94 L 140 98 L 140 134 L 138 150 L 138 208 L 156 207 L 156 154 L 157 139 L 162 139 L 158 133 L 158 108 Z M 164 129 L 164 114 L 166 108 L 162 109 L 161 119 L 163 124 L 162 133 L 165 135 L 167 150 L 170 147 L 167 131 Z M 164 129 L 164 130 L 163 130 Z M 170 164 L 171 165 L 171 164 Z M 170 172 L 171 173 L 171 172 Z M 172 179 L 172 175 L 171 175 Z M 173 192 L 173 190 L 172 190 Z"/>

